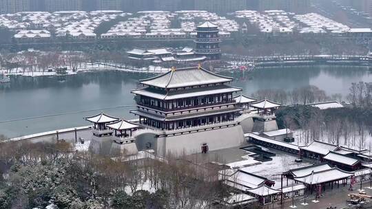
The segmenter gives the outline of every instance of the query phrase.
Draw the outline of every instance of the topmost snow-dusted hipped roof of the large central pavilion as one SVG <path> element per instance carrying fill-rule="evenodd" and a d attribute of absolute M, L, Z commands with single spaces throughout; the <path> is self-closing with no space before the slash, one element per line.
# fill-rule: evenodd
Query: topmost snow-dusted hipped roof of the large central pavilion
<path fill-rule="evenodd" d="M 174 69 L 161 76 L 140 80 L 144 85 L 160 87 L 163 89 L 192 87 L 196 85 L 210 85 L 216 83 L 227 83 L 233 78 L 220 76 L 203 69 L 203 67 L 189 67 Z"/>

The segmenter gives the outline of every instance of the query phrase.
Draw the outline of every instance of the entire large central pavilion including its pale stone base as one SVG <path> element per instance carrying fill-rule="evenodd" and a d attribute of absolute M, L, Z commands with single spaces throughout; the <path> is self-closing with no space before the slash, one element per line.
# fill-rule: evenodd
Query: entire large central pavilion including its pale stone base
<path fill-rule="evenodd" d="M 140 80 L 143 87 L 132 91 L 137 109 L 131 113 L 138 115 L 143 128 L 154 130 L 154 136 L 138 136 L 138 144 L 147 144 L 146 148 L 160 153 L 183 149 L 200 152 L 205 145 L 211 151 L 240 145 L 244 137 L 236 118 L 241 109 L 233 94 L 242 89 L 231 87 L 232 80 L 201 66 L 173 68 L 161 76 Z"/>

